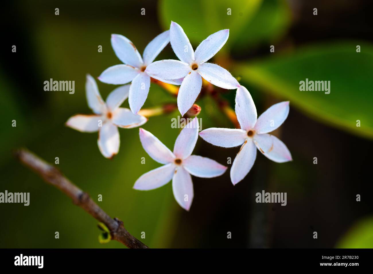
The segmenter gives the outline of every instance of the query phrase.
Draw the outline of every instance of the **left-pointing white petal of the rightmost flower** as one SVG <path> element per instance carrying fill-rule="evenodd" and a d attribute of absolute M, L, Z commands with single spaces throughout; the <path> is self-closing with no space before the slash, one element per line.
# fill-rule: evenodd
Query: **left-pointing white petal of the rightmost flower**
<path fill-rule="evenodd" d="M 246 138 L 246 131 L 243 129 L 224 129 L 210 127 L 200 132 L 200 136 L 206 142 L 223 148 L 233 148 L 242 145 Z"/>

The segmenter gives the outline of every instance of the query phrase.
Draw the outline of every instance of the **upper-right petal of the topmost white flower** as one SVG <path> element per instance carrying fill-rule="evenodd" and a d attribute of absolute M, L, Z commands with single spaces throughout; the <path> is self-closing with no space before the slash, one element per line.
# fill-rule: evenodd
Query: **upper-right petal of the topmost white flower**
<path fill-rule="evenodd" d="M 229 37 L 229 29 L 222 29 L 207 37 L 195 49 L 195 61 L 202 64 L 213 57 L 223 47 Z"/>

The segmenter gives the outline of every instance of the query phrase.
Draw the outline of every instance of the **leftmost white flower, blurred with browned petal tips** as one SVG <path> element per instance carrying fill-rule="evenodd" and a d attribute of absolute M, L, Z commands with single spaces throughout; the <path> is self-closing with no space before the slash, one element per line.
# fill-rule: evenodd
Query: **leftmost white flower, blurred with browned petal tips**
<path fill-rule="evenodd" d="M 102 100 L 97 84 L 91 75 L 85 83 L 88 106 L 95 114 L 78 114 L 69 118 L 66 126 L 81 132 L 98 131 L 98 148 L 106 158 L 112 158 L 119 151 L 119 132 L 117 127 L 132 128 L 146 123 L 147 118 L 133 114 L 128 108 L 119 107 L 127 99 L 129 85 L 114 89 Z"/>

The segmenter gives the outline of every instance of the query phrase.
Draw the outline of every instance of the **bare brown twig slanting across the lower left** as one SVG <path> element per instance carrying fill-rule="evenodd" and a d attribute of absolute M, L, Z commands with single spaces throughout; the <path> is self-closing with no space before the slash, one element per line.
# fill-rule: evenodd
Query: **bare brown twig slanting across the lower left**
<path fill-rule="evenodd" d="M 128 248 L 148 248 L 140 240 L 129 234 L 121 220 L 111 218 L 90 198 L 87 192 L 70 182 L 58 169 L 23 148 L 16 150 L 15 156 L 26 167 L 38 173 L 47 183 L 69 196 L 75 205 L 83 208 L 96 220 L 104 223 L 110 230 L 111 239 L 123 243 Z"/>

